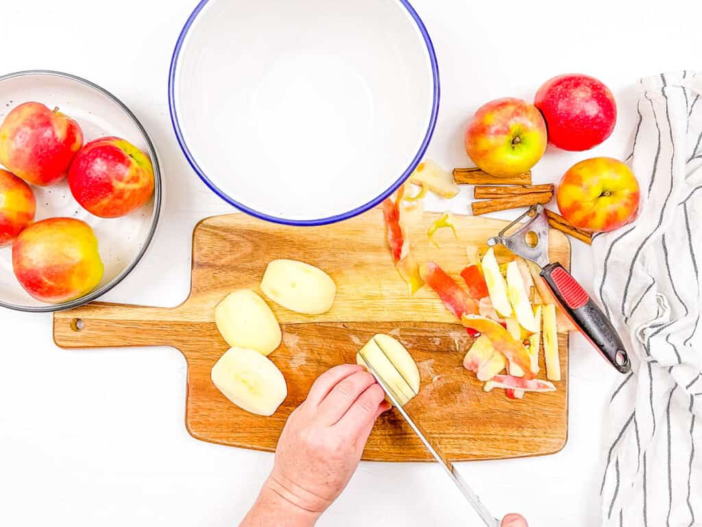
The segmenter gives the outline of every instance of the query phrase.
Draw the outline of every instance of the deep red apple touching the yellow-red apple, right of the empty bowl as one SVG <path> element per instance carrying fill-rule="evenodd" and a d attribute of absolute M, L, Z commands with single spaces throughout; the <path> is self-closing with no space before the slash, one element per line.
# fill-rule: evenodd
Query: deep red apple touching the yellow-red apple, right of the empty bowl
<path fill-rule="evenodd" d="M 553 77 L 536 92 L 536 108 L 548 127 L 548 142 L 563 150 L 589 150 L 609 137 L 616 124 L 616 102 L 594 77 Z"/>

